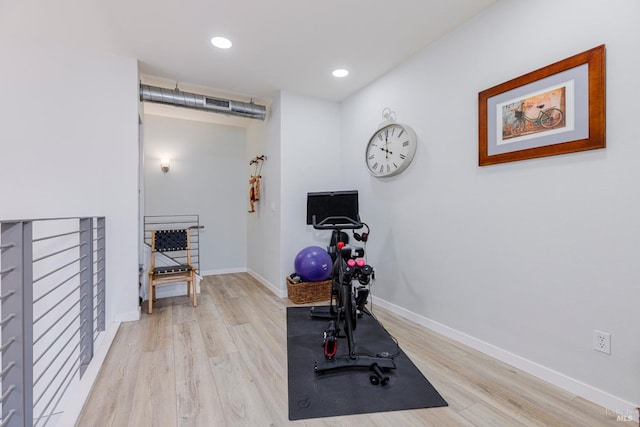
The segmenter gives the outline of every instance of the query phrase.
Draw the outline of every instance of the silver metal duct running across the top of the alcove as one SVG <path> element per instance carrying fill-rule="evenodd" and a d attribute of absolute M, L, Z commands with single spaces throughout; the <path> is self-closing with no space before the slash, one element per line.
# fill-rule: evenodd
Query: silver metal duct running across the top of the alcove
<path fill-rule="evenodd" d="M 177 87 L 176 89 L 165 89 L 162 87 L 141 84 L 140 101 L 193 108 L 195 110 L 227 114 L 230 116 L 248 117 L 250 119 L 264 120 L 267 114 L 267 108 L 264 105 L 182 92 Z"/>

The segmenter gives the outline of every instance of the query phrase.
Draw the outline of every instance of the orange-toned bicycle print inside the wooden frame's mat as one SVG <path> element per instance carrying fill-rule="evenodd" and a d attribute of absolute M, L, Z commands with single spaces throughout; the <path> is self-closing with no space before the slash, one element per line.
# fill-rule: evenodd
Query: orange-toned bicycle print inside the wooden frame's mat
<path fill-rule="evenodd" d="M 565 87 L 520 99 L 502 107 L 502 139 L 566 126 Z"/>

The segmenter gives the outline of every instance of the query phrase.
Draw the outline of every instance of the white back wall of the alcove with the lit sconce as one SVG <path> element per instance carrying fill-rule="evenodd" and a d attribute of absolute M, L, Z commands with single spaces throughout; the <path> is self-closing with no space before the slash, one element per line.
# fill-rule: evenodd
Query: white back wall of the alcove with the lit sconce
<path fill-rule="evenodd" d="M 145 215 L 199 215 L 200 271 L 246 269 L 245 129 L 146 114 L 144 136 Z"/>

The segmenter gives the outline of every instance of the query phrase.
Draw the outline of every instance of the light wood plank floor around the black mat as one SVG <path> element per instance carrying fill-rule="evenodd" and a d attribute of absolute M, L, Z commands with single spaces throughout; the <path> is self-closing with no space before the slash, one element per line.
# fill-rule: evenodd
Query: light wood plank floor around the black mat
<path fill-rule="evenodd" d="M 446 408 L 288 420 L 286 307 L 248 274 L 206 277 L 123 323 L 79 426 L 620 426 L 615 414 L 381 308 Z"/>

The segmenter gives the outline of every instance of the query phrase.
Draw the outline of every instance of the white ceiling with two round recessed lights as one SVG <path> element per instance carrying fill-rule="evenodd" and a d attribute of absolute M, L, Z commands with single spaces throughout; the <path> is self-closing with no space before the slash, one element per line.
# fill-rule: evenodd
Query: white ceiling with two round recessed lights
<path fill-rule="evenodd" d="M 144 75 L 243 97 L 342 101 L 495 1 L 0 0 L 0 36 L 111 51 Z"/>

